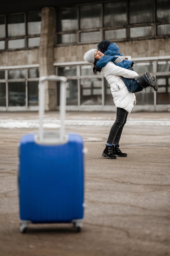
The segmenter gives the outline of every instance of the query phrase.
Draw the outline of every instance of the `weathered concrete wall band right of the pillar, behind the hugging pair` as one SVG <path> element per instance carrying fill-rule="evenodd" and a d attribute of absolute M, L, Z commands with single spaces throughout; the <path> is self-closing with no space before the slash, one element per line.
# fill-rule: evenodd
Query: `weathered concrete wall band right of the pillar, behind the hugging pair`
<path fill-rule="evenodd" d="M 134 58 L 170 55 L 170 38 L 117 42 L 121 54 Z M 97 48 L 96 44 L 56 47 L 54 62 L 83 61 L 86 51 Z"/>

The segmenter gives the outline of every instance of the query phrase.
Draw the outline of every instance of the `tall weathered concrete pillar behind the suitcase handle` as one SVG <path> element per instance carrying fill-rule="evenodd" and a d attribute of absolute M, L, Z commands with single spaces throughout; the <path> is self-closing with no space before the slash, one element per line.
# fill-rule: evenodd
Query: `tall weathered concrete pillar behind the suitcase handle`
<path fill-rule="evenodd" d="M 55 74 L 54 63 L 55 40 L 55 8 L 42 8 L 41 36 L 39 49 L 40 76 Z M 55 82 L 46 82 L 45 110 L 55 110 L 57 101 L 57 88 Z"/>

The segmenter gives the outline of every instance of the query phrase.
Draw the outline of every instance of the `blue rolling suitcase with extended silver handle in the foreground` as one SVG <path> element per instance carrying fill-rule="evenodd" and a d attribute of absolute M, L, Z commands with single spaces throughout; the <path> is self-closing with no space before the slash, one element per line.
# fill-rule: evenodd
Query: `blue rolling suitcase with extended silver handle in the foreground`
<path fill-rule="evenodd" d="M 43 130 L 46 80 L 61 83 L 58 132 Z M 64 129 L 66 78 L 40 77 L 39 93 L 39 131 L 24 135 L 19 143 L 20 232 L 26 231 L 29 222 L 73 222 L 80 231 L 84 218 L 84 145 L 80 135 Z"/>

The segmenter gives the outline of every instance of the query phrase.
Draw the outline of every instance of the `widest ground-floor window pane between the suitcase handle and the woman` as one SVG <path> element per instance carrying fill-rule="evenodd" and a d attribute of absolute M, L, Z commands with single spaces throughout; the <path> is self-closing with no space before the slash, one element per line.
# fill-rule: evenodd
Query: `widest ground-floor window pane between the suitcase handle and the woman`
<path fill-rule="evenodd" d="M 99 78 L 80 80 L 81 105 L 102 104 L 102 82 Z"/>

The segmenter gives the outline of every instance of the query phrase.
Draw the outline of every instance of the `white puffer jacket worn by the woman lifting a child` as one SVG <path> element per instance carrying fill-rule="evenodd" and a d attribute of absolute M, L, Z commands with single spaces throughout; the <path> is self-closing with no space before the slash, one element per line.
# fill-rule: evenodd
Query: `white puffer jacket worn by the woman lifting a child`
<path fill-rule="evenodd" d="M 110 84 L 110 90 L 116 108 L 124 108 L 130 113 L 135 108 L 136 97 L 134 93 L 128 92 L 121 76 L 126 78 L 136 78 L 139 76 L 137 72 L 118 67 L 111 61 L 102 68 L 102 72 Z"/>

